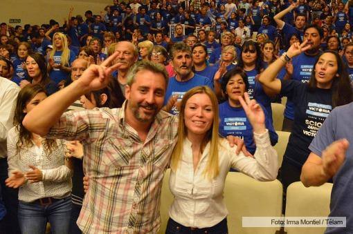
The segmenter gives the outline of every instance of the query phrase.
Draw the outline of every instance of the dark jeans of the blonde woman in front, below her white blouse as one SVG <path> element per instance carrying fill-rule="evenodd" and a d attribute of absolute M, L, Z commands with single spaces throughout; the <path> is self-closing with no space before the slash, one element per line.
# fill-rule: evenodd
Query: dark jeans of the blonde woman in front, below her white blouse
<path fill-rule="evenodd" d="M 215 226 L 209 228 L 190 228 L 175 222 L 171 218 L 168 220 L 167 229 L 165 234 L 228 234 L 227 219 L 225 218 Z"/>

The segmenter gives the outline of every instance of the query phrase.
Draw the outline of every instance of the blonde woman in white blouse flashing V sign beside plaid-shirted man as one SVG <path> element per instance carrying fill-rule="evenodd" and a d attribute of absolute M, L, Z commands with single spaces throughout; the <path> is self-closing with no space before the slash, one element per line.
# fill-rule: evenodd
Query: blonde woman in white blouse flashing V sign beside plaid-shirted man
<path fill-rule="evenodd" d="M 259 104 L 245 93 L 239 96 L 254 130 L 255 158 L 235 154 L 228 141 L 218 135 L 218 102 L 206 86 L 192 88 L 181 101 L 177 146 L 170 167 L 170 207 L 165 233 L 228 233 L 223 189 L 230 168 L 260 181 L 276 178 L 278 157 L 271 146 L 265 117 Z"/>

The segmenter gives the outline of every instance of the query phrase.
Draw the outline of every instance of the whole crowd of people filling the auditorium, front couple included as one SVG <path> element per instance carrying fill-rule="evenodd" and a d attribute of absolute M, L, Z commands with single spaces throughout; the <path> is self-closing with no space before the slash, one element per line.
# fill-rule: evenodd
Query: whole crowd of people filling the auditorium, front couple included
<path fill-rule="evenodd" d="M 165 233 L 228 233 L 229 171 L 280 179 L 284 206 L 333 182 L 327 233 L 353 232 L 353 1 L 125 2 L 0 24 L 0 233 L 157 233 L 165 168 Z"/>

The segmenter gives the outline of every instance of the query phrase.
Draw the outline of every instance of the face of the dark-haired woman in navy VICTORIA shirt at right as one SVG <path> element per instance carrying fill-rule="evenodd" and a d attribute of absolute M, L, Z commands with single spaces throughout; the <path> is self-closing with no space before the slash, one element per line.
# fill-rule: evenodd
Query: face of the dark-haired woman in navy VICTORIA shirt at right
<path fill-rule="evenodd" d="M 318 88 L 331 88 L 334 77 L 338 77 L 338 63 L 332 52 L 325 52 L 315 65 L 315 79 Z"/>

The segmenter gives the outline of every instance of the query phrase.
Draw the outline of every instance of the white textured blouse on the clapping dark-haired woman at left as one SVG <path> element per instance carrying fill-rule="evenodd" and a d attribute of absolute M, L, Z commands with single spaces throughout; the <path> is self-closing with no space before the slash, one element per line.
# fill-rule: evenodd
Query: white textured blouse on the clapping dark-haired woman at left
<path fill-rule="evenodd" d="M 72 188 L 72 171 L 64 165 L 64 141 L 57 139 L 58 147 L 50 155 L 45 153 L 43 146 L 38 147 L 35 144 L 30 148 L 21 148 L 20 153 L 16 154 L 18 136 L 16 127 L 8 131 L 8 176 L 12 176 L 14 170 L 22 173 L 32 170 L 29 165 L 37 167 L 43 173 L 42 182 L 27 182 L 19 188 L 19 200 L 33 202 L 43 197 L 68 197 Z"/>

